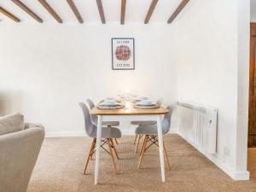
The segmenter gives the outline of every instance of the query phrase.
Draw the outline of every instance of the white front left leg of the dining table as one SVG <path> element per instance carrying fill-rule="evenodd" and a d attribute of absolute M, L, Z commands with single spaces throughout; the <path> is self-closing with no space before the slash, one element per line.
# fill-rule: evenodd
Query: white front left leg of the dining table
<path fill-rule="evenodd" d="M 101 143 L 102 143 L 102 115 L 99 115 L 98 125 L 97 125 L 97 138 L 96 138 L 96 163 L 95 163 L 95 180 L 94 180 L 95 184 L 98 183 L 98 178 L 99 178 Z"/>

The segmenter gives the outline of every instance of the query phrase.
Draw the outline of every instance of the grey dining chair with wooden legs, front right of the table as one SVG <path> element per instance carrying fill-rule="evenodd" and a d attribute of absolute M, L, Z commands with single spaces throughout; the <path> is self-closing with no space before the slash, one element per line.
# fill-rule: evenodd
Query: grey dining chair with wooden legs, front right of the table
<path fill-rule="evenodd" d="M 165 135 L 166 133 L 168 133 L 170 131 L 172 111 L 173 111 L 174 107 L 175 107 L 174 103 L 171 105 L 168 105 L 167 109 L 169 110 L 169 113 L 166 113 L 164 119 L 161 122 L 163 135 Z M 139 160 L 139 163 L 137 166 L 138 168 L 140 168 L 142 165 L 142 162 L 143 162 L 143 156 L 145 154 L 145 151 L 153 145 L 156 145 L 158 147 L 157 125 L 156 124 L 154 124 L 154 125 L 139 125 L 135 132 L 137 135 L 144 136 L 143 146 L 140 151 L 140 160 Z M 148 144 L 148 146 L 147 146 L 147 144 Z M 168 170 L 171 170 L 167 152 L 166 152 L 166 145 L 164 142 L 163 142 L 163 147 L 164 147 L 164 154 L 166 157 L 167 168 L 168 168 Z"/>

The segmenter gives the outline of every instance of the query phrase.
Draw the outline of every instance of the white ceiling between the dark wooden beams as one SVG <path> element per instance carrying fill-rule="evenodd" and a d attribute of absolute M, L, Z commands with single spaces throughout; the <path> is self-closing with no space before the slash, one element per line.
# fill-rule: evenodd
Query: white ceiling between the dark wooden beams
<path fill-rule="evenodd" d="M 44 22 L 56 22 L 55 19 L 49 15 L 38 0 L 21 0 L 27 7 L 32 9 Z M 47 0 L 49 5 L 55 9 L 56 13 L 61 16 L 63 22 L 77 22 L 75 15 L 69 8 L 66 0 Z M 147 15 L 148 8 L 152 0 L 127 0 L 126 1 L 125 23 L 142 22 Z M 154 9 L 154 13 L 149 20 L 151 22 L 167 22 L 179 3 L 182 0 L 159 0 Z M 96 0 L 74 0 L 80 14 L 86 22 L 101 23 L 100 15 L 97 9 Z M 102 0 L 102 5 L 105 13 L 105 18 L 108 22 L 119 22 L 121 0 Z M 12 3 L 10 0 L 0 0 L 0 6 L 9 10 L 12 14 L 20 18 L 21 22 L 37 22 L 33 20 L 30 15 L 27 15 L 22 9 Z M 0 20 L 3 22 L 13 22 L 5 15 L 0 15 Z"/>

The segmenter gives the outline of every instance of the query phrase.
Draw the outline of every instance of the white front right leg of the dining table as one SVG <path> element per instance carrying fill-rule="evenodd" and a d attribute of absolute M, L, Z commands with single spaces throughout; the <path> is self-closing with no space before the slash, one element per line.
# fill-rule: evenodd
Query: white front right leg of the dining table
<path fill-rule="evenodd" d="M 157 134 L 158 134 L 158 144 L 159 144 L 159 154 L 160 154 L 160 166 L 161 166 L 161 176 L 162 182 L 165 182 L 165 161 L 164 161 L 164 151 L 163 151 L 163 132 L 161 125 L 161 116 L 157 116 Z"/>

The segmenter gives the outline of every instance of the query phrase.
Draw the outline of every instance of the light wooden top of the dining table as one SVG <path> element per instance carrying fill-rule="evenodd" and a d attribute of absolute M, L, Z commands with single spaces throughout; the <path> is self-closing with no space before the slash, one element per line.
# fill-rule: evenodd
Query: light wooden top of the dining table
<path fill-rule="evenodd" d="M 120 109 L 91 109 L 92 114 L 96 115 L 143 115 L 143 114 L 166 114 L 169 112 L 166 108 L 152 108 L 152 109 L 143 109 L 143 108 L 133 108 L 134 103 L 126 102 L 126 108 Z"/>

